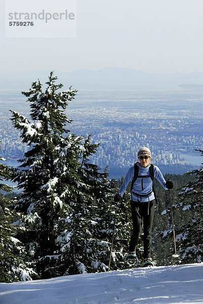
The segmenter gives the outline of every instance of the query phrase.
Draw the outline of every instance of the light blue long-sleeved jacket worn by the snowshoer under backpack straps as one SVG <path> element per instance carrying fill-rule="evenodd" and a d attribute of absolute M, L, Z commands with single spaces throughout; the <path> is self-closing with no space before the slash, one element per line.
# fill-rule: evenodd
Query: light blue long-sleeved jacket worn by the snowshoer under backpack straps
<path fill-rule="evenodd" d="M 146 168 L 142 167 L 140 163 L 137 163 L 137 165 L 139 167 L 139 176 L 149 175 L 150 164 Z M 124 182 L 120 186 L 119 193 L 122 197 L 124 195 L 124 192 L 126 191 L 129 182 L 132 181 L 133 176 L 134 176 L 134 166 L 128 170 Z M 167 190 L 166 180 L 157 166 L 154 166 L 154 178 L 156 178 L 159 181 L 159 183 L 163 186 L 163 188 Z M 133 186 L 133 192 L 137 193 L 138 195 L 147 195 L 150 192 L 152 192 L 151 177 L 149 176 L 147 178 L 141 178 L 141 177 L 137 178 Z M 134 195 L 132 193 L 132 199 L 133 201 L 148 202 L 154 200 L 154 194 L 152 192 L 148 197 L 138 198 L 137 195 Z"/>

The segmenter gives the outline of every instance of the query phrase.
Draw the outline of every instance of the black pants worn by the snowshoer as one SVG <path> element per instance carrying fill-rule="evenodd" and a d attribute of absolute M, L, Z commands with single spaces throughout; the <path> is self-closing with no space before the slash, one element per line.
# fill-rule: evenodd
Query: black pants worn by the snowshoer
<path fill-rule="evenodd" d="M 131 201 L 131 212 L 133 221 L 133 233 L 129 243 L 129 252 L 135 251 L 139 237 L 144 230 L 144 255 L 143 258 L 150 257 L 151 254 L 151 231 L 154 216 L 154 200 L 149 202 Z"/>

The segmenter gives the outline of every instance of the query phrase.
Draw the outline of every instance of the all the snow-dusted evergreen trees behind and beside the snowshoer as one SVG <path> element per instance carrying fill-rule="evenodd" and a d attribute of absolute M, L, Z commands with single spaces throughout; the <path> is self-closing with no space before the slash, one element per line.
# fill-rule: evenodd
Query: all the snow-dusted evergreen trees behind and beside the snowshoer
<path fill-rule="evenodd" d="M 108 271 L 115 218 L 113 197 L 120 181 L 89 162 L 98 144 L 71 133 L 65 110 L 77 91 L 60 91 L 50 73 L 47 88 L 38 80 L 22 92 L 29 117 L 12 110 L 13 126 L 29 147 L 18 168 L 0 158 L 0 181 L 17 182 L 20 195 L 0 183 L 0 281 Z M 202 155 L 202 151 L 199 150 Z M 172 201 L 179 260 L 173 260 L 168 191 L 155 182 L 156 205 L 152 256 L 159 265 L 203 261 L 202 169 L 167 175 L 174 183 Z M 10 193 L 10 194 L 9 194 Z M 131 235 L 130 193 L 118 205 L 111 270 L 124 268 Z M 162 215 L 161 215 L 162 214 Z M 142 255 L 142 241 L 138 246 Z"/>

